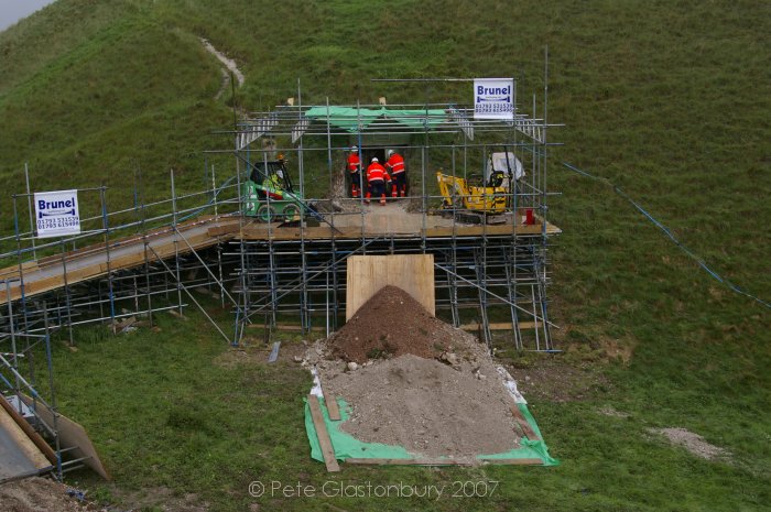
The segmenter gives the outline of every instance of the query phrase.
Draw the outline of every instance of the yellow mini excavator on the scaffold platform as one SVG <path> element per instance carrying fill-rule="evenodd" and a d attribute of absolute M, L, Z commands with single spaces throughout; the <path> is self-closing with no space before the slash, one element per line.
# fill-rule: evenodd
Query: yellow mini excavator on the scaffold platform
<path fill-rule="evenodd" d="M 471 222 L 501 224 L 511 205 L 511 185 L 524 176 L 522 163 L 510 152 L 492 153 L 479 185 L 437 171 L 442 208 Z"/>

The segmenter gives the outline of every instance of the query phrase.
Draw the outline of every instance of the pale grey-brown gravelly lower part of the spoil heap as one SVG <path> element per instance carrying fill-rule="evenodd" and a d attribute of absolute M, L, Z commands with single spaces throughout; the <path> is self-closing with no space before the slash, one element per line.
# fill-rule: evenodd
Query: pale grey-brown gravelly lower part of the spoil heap
<path fill-rule="evenodd" d="M 322 382 L 352 404 L 341 428 L 367 443 L 454 458 L 518 447 L 513 401 L 491 364 L 450 367 L 404 355 L 354 372 L 326 371 Z"/>

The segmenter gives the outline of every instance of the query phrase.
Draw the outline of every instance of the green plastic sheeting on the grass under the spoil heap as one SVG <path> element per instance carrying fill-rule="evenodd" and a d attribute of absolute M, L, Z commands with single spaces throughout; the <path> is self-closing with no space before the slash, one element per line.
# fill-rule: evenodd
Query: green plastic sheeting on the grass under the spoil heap
<path fill-rule="evenodd" d="M 324 423 L 326 424 L 327 432 L 329 433 L 329 438 L 332 439 L 332 446 L 335 449 L 335 458 L 338 460 L 344 460 L 347 458 L 361 458 L 361 459 L 415 459 L 419 458 L 415 455 L 406 450 L 402 446 L 383 445 L 380 443 L 363 443 L 350 434 L 347 434 L 340 429 L 340 425 L 348 420 L 350 416 L 350 406 L 343 399 L 337 399 L 337 403 L 340 406 L 340 421 L 333 422 L 329 420 L 329 414 L 327 412 L 326 403 L 324 399 L 319 399 L 322 403 L 322 413 L 324 414 Z M 525 404 L 517 404 L 522 415 L 528 421 L 533 431 L 543 439 L 539 426 L 535 424 L 535 420 L 528 411 Z M 322 447 L 318 445 L 318 436 L 316 435 L 316 428 L 313 425 L 313 418 L 311 417 L 311 406 L 305 401 L 305 431 L 307 432 L 308 443 L 311 444 L 311 457 L 318 461 L 324 461 L 324 455 L 322 454 Z M 541 459 L 544 466 L 556 466 L 560 464 L 557 459 L 552 458 L 549 455 L 549 449 L 543 440 L 530 440 L 525 437 L 520 439 L 520 447 L 506 451 L 502 454 L 491 454 L 491 455 L 477 455 L 477 459 Z"/>

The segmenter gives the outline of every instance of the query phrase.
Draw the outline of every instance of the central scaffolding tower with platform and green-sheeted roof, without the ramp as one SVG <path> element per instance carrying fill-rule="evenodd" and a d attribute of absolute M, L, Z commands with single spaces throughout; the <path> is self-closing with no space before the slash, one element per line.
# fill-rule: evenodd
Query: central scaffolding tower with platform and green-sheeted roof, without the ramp
<path fill-rule="evenodd" d="M 333 331 L 345 311 L 348 255 L 432 253 L 436 308 L 448 322 L 468 327 L 465 312 L 471 312 L 488 344 L 491 329 L 506 326 L 517 349 L 553 350 L 546 263 L 549 238 L 558 229 L 546 220 L 546 159 L 553 144 L 546 139 L 549 128 L 544 119 L 523 113 L 510 122 L 475 120 L 471 109 L 447 104 L 287 106 L 253 113 L 236 131 L 237 162 L 251 168 L 283 154 L 296 162 L 303 193 L 311 187 L 308 175 L 328 179 L 326 190 L 334 190 L 344 166 L 341 156 L 351 145 L 367 156 L 398 148 L 406 154 L 412 192 L 411 199 L 399 199 L 409 206 L 395 215 L 410 216 L 411 222 L 406 228 L 399 225 L 403 229 L 394 232 L 394 222 L 368 222 L 378 206 L 327 194 L 313 201 L 325 213 L 328 229 L 322 233 L 305 222 L 291 237 L 280 236 L 287 228 L 279 221 L 242 227 L 243 235 L 226 252 L 241 261 L 237 331 L 292 316 L 300 318 L 304 330 L 321 324 Z M 470 177 L 490 151 L 501 148 L 528 164 L 526 178 L 506 194 L 510 205 L 506 222 L 469 225 L 461 220 L 461 208 L 439 211 L 443 197 L 436 170 Z M 523 225 L 528 209 L 536 213 L 537 226 Z M 437 218 L 449 221 L 436 222 Z"/>

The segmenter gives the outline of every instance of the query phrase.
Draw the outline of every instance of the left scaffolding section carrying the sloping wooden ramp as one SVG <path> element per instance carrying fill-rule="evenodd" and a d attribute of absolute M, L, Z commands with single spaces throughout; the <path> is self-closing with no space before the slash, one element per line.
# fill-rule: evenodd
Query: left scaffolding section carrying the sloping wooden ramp
<path fill-rule="evenodd" d="M 107 324 L 115 334 L 138 322 L 152 326 L 155 313 L 181 314 L 189 302 L 199 305 L 191 291 L 220 297 L 218 290 L 228 286 L 227 271 L 219 237 L 208 231 L 237 224 L 232 214 L 218 214 L 220 205 L 235 210 L 238 203 L 218 200 L 237 195 L 230 181 L 177 197 L 172 174 L 171 199 L 111 213 L 105 187 L 78 192 L 98 193 L 101 213 L 82 219 L 79 235 L 36 240 L 32 215 L 30 230 L 22 230 L 26 216 L 19 211 L 31 208 L 28 189 L 12 196 L 15 232 L 0 239 L 4 249 L 11 248 L 0 253 L 0 261 L 15 261 L 0 269 L 0 394 L 53 448 L 52 465 L 39 472 L 51 471 L 58 479 L 89 465 L 90 457 L 73 456 L 82 453 L 79 447 L 61 438 L 53 336 L 63 331 L 75 345 L 73 329 L 79 326 Z M 192 206 L 181 208 L 180 199 Z M 216 214 L 206 215 L 209 209 Z"/>

